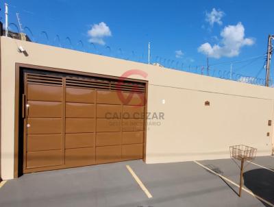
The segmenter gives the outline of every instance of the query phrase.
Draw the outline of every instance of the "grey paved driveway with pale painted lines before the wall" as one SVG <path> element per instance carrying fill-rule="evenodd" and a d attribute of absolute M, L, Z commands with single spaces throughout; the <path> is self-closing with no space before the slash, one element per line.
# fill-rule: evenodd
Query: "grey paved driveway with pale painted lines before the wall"
<path fill-rule="evenodd" d="M 274 158 L 270 156 L 254 162 L 274 169 Z M 238 197 L 234 184 L 203 168 L 208 167 L 237 184 L 239 169 L 233 160 L 199 163 L 146 165 L 142 160 L 134 160 L 26 174 L 0 188 L 0 206 L 269 206 L 245 191 Z M 127 165 L 138 178 L 134 178 Z M 274 171 L 269 169 L 249 163 L 245 185 L 273 203 Z M 253 179 L 259 175 L 259 180 Z"/>

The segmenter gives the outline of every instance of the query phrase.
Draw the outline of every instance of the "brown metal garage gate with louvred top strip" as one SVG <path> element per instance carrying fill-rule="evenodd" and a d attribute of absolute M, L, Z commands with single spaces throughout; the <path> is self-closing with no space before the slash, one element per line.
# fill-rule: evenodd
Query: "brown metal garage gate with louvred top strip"
<path fill-rule="evenodd" d="M 23 173 L 143 158 L 145 84 L 24 73 Z"/>

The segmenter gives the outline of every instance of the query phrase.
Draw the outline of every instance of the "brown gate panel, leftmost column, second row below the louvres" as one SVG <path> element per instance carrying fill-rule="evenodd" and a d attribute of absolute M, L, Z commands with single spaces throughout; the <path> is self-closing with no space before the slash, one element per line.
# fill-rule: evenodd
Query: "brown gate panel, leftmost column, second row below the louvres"
<path fill-rule="evenodd" d="M 28 117 L 62 117 L 62 102 L 54 101 L 27 101 Z"/>

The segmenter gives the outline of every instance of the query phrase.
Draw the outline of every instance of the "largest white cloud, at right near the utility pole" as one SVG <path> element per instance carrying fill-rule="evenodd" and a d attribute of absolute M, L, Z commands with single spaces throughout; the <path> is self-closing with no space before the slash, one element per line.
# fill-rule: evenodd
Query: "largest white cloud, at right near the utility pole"
<path fill-rule="evenodd" d="M 241 47 L 253 44 L 253 38 L 245 38 L 245 27 L 242 23 L 238 23 L 237 25 L 228 25 L 221 31 L 219 44 L 210 45 L 206 42 L 198 48 L 198 51 L 211 58 L 230 58 L 238 56 Z"/>

